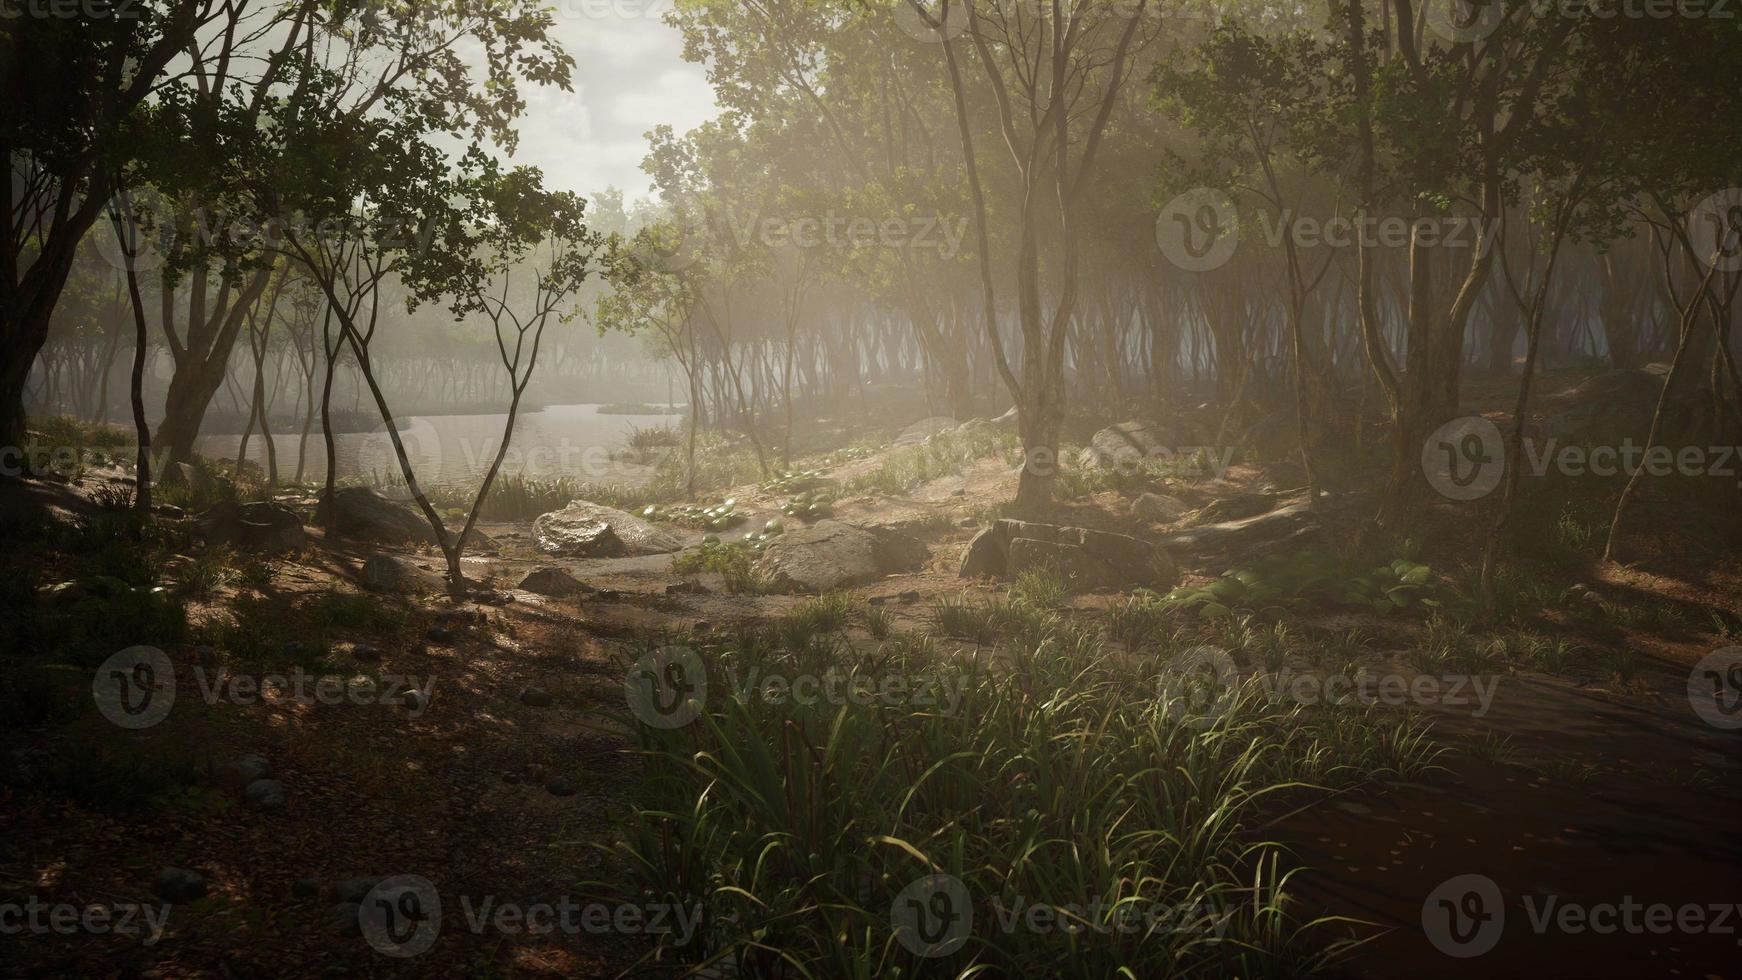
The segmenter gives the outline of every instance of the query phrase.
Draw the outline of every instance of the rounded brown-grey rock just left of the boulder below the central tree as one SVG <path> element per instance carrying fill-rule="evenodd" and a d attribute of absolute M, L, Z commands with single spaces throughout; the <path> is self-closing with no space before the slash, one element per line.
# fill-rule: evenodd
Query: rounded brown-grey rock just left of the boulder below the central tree
<path fill-rule="evenodd" d="M 897 531 L 819 520 L 770 541 L 756 571 L 782 592 L 829 592 L 913 571 L 927 557 L 925 545 Z"/>

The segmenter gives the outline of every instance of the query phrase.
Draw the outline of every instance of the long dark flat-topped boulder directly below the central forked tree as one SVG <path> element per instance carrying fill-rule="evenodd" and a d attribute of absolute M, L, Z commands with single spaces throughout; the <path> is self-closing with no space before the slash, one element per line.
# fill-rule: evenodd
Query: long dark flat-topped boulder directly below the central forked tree
<path fill-rule="evenodd" d="M 962 559 L 963 578 L 1016 578 L 1057 567 L 1075 588 L 1167 590 L 1179 581 L 1167 548 L 1111 531 L 998 520 L 981 531 Z"/>

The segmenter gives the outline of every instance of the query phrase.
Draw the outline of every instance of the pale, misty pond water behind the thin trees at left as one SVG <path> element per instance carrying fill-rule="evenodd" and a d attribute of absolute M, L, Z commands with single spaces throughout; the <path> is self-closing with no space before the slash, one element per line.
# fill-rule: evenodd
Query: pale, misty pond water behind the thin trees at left
<path fill-rule="evenodd" d="M 514 439 L 502 461 L 502 475 L 530 479 L 575 477 L 589 482 L 638 482 L 646 479 L 646 468 L 629 461 L 611 460 L 613 449 L 622 449 L 638 428 L 672 426 L 681 421 L 674 414 L 599 414 L 601 406 L 545 406 L 542 411 L 521 413 L 514 423 Z M 436 484 L 474 484 L 490 468 L 502 447 L 502 426 L 507 414 L 463 416 L 411 416 L 401 420 L 399 437 L 418 473 L 418 480 Z M 207 435 L 197 442 L 204 456 L 235 460 L 240 435 Z M 289 480 L 296 473 L 296 446 L 301 432 L 275 432 L 279 451 L 279 477 Z M 387 432 L 336 433 L 336 460 L 340 479 L 399 477 L 399 461 Z M 326 479 L 326 446 L 321 440 L 321 423 L 308 433 L 308 465 L 303 480 Z M 247 458 L 267 465 L 267 444 L 256 432 L 247 444 Z"/>

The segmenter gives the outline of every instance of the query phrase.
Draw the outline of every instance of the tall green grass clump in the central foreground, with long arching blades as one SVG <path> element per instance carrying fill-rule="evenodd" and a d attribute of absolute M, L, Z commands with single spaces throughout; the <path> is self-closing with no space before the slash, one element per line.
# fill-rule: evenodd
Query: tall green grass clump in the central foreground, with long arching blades
<path fill-rule="evenodd" d="M 1237 684 L 1225 712 L 1171 714 L 1155 668 L 1054 646 L 993 661 L 937 660 L 895 642 L 709 649 L 728 672 L 841 672 L 874 682 L 935 675 L 937 705 L 711 696 L 681 729 L 636 724 L 646 759 L 638 806 L 606 846 L 601 900 L 702 909 L 688 945 L 650 959 L 791 977 L 1310 977 L 1348 928 L 1303 921 L 1280 848 L 1251 829 L 1324 789 L 1420 778 L 1439 748 L 1420 722 L 1355 707 L 1272 701 Z M 890 909 L 911 883 L 948 874 L 974 905 L 972 940 L 922 961 Z M 1200 909 L 1094 942 L 996 928 L 1017 900 Z M 780 964 L 780 966 L 777 966 Z"/>

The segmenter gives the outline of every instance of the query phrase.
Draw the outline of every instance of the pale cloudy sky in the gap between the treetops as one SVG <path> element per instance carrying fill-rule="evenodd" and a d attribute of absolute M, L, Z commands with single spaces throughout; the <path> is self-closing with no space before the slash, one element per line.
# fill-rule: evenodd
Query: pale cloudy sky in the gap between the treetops
<path fill-rule="evenodd" d="M 573 91 L 526 87 L 516 164 L 540 167 L 545 186 L 594 195 L 617 186 L 652 197 L 641 172 L 646 132 L 685 132 L 719 106 L 683 38 L 664 23 L 672 0 L 554 0 L 556 37 L 575 57 Z"/>

